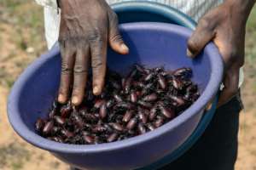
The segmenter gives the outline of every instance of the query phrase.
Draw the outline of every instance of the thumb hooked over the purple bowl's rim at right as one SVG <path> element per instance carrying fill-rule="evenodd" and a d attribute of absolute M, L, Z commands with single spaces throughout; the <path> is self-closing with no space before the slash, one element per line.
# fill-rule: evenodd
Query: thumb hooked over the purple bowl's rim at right
<path fill-rule="evenodd" d="M 194 33 L 189 37 L 187 55 L 194 58 L 197 54 L 200 54 L 201 50 L 213 37 L 214 31 L 209 21 L 205 19 L 200 20 Z"/>

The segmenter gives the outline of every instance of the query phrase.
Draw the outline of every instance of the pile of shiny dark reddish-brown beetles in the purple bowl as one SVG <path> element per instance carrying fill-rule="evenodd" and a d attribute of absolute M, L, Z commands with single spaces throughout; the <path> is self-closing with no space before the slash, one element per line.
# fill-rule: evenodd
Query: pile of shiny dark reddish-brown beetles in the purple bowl
<path fill-rule="evenodd" d="M 165 71 L 133 65 L 122 77 L 107 71 L 102 94 L 95 96 L 88 78 L 84 101 L 75 107 L 55 101 L 36 131 L 66 144 L 102 144 L 128 139 L 164 125 L 192 105 L 200 94 L 192 70 Z"/>

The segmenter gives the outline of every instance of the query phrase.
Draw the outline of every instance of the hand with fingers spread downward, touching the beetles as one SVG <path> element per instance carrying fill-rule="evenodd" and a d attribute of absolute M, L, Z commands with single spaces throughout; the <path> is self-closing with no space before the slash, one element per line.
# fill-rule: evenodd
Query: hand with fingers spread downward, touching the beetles
<path fill-rule="evenodd" d="M 108 42 L 119 54 L 129 49 L 118 29 L 118 18 L 105 0 L 60 0 L 61 85 L 58 100 L 73 105 L 84 98 L 88 69 L 93 73 L 93 93 L 102 93 L 106 74 Z M 73 92 L 70 87 L 73 83 Z"/>

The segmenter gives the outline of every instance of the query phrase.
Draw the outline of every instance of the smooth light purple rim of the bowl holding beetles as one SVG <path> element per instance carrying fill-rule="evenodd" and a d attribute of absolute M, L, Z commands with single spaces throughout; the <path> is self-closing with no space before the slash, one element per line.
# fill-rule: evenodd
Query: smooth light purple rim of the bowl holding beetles
<path fill-rule="evenodd" d="M 122 24 L 120 26 L 121 30 L 137 30 L 137 29 L 147 29 L 154 30 L 160 29 L 161 31 L 173 31 L 177 34 L 189 36 L 192 31 L 183 26 L 177 26 L 166 23 L 151 23 L 151 22 L 140 22 L 140 23 L 128 23 Z M 184 111 L 183 114 L 177 116 L 175 121 L 171 121 L 166 123 L 164 126 L 155 129 L 152 132 L 145 133 L 143 135 L 139 135 L 133 137 L 131 139 L 125 139 L 122 141 L 116 141 L 108 144 L 91 144 L 91 145 L 77 145 L 77 144 L 61 144 L 49 139 L 44 139 L 39 136 L 37 133 L 31 131 L 26 124 L 22 122 L 22 118 L 20 117 L 18 108 L 19 103 L 18 99 L 20 98 L 20 90 L 26 84 L 27 78 L 31 77 L 35 69 L 39 68 L 41 65 L 56 54 L 59 54 L 59 48 L 53 48 L 49 51 L 48 54 L 44 54 L 39 59 L 36 59 L 32 65 L 29 65 L 24 71 L 19 79 L 15 82 L 14 87 L 9 94 L 8 99 L 8 116 L 9 122 L 12 127 L 14 127 L 15 132 L 20 135 L 21 138 L 25 139 L 28 143 L 33 144 L 41 149 L 49 150 L 57 153 L 70 153 L 70 154 L 96 154 L 102 153 L 104 151 L 111 150 L 120 150 L 120 149 L 128 149 L 131 146 L 142 144 L 147 142 L 148 140 L 158 138 L 164 133 L 169 133 L 178 127 L 179 124 L 186 122 L 191 116 L 194 116 L 200 111 L 203 111 L 205 105 L 217 94 L 219 84 L 222 81 L 223 76 L 223 60 L 218 53 L 218 48 L 210 42 L 205 48 L 206 51 L 211 51 L 210 54 L 210 62 L 212 67 L 212 73 L 210 77 L 210 81 L 207 84 L 204 92 L 201 94 L 201 97 L 196 100 L 196 102 L 189 107 L 188 110 Z M 215 77 L 215 78 L 213 78 Z M 21 129 L 21 130 L 20 130 Z"/>

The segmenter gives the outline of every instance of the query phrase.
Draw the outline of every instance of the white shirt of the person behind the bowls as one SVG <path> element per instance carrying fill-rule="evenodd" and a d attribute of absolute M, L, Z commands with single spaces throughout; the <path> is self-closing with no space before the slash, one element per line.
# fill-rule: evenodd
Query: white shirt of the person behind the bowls
<path fill-rule="evenodd" d="M 44 6 L 44 27 L 48 48 L 51 48 L 59 37 L 61 15 L 58 14 L 56 0 L 35 0 Z M 108 4 L 138 1 L 138 0 L 106 0 Z M 208 10 L 223 3 L 223 0 L 148 0 L 148 2 L 162 3 L 177 8 L 192 19 L 198 21 Z M 239 87 L 243 82 L 243 71 L 240 71 Z"/>

